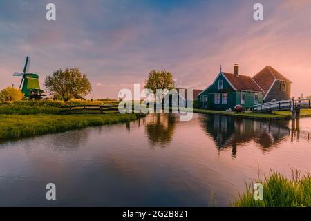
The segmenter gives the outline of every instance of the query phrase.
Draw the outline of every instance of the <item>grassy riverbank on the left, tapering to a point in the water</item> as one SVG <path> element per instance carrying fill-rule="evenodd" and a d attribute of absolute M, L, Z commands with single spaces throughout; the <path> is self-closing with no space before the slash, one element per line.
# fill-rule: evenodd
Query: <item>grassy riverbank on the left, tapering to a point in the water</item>
<path fill-rule="evenodd" d="M 104 115 L 3 115 L 0 114 L 0 141 L 17 140 L 23 137 L 59 133 L 88 126 L 102 126 L 130 122 L 140 114 Z"/>

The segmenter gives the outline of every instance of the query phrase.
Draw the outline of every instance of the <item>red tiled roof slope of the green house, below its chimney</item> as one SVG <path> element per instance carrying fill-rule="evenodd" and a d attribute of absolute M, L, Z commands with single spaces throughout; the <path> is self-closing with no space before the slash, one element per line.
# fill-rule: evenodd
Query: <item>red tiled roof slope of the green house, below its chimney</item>
<path fill-rule="evenodd" d="M 252 77 L 245 75 L 234 75 L 232 73 L 225 73 L 223 75 L 228 79 L 228 81 L 236 88 L 236 90 L 249 90 L 263 93 L 263 90 L 256 84 Z"/>

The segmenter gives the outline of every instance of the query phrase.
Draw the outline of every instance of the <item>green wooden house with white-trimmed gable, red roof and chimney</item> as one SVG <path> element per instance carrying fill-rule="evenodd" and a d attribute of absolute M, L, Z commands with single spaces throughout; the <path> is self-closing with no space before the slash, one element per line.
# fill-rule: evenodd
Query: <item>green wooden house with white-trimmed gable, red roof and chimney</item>
<path fill-rule="evenodd" d="M 243 108 L 263 103 L 263 90 L 252 77 L 239 75 L 238 65 L 234 73 L 220 73 L 213 84 L 198 94 L 198 106 L 211 110 L 233 109 L 240 104 Z"/>

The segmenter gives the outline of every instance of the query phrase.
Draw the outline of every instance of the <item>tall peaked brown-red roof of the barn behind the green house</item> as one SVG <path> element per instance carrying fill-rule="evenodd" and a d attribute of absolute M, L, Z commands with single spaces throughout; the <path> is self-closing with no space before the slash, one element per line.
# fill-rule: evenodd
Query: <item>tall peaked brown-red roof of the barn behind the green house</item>
<path fill-rule="evenodd" d="M 261 88 L 263 88 L 265 93 L 267 93 L 275 79 L 292 83 L 292 81 L 270 66 L 266 66 L 263 70 L 259 71 L 253 79 L 259 86 L 261 86 Z"/>

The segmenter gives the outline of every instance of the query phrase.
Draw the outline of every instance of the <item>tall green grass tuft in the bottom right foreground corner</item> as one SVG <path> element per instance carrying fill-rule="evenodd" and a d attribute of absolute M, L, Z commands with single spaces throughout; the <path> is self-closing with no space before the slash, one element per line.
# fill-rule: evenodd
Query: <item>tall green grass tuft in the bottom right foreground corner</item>
<path fill-rule="evenodd" d="M 243 195 L 234 202 L 238 207 L 310 207 L 311 206 L 311 176 L 303 177 L 299 171 L 292 171 L 292 178 L 285 177 L 277 171 L 271 171 L 263 180 L 263 200 L 254 200 L 252 186 L 246 187 Z"/>

